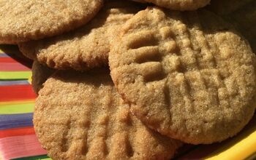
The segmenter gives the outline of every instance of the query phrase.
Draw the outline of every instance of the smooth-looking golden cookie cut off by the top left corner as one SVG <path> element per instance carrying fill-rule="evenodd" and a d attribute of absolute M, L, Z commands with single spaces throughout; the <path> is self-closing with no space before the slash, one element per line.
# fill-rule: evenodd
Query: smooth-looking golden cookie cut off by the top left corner
<path fill-rule="evenodd" d="M 2 0 L 0 43 L 16 44 L 55 36 L 87 23 L 103 0 Z"/>

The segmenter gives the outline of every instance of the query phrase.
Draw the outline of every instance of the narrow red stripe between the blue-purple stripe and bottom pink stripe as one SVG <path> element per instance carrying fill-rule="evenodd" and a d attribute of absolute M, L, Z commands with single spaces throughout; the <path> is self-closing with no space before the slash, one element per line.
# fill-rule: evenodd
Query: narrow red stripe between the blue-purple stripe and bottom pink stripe
<path fill-rule="evenodd" d="M 34 134 L 35 134 L 35 132 L 34 132 L 33 127 L 23 127 L 23 128 L 0 130 L 0 138 L 19 136 L 19 135 L 34 135 Z"/>

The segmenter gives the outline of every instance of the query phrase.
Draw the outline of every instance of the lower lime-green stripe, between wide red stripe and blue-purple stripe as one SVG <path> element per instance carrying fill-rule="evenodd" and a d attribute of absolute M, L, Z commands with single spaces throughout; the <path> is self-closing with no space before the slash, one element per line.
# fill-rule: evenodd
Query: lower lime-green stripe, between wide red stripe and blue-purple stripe
<path fill-rule="evenodd" d="M 1 114 L 31 113 L 34 111 L 34 103 L 0 104 Z"/>

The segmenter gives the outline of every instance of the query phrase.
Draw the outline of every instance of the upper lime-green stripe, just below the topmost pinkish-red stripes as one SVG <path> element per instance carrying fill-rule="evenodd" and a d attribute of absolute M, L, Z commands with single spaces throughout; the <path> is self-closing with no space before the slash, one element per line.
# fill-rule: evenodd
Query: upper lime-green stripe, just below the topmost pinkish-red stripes
<path fill-rule="evenodd" d="M 29 79 L 31 71 L 0 71 L 0 79 Z"/>

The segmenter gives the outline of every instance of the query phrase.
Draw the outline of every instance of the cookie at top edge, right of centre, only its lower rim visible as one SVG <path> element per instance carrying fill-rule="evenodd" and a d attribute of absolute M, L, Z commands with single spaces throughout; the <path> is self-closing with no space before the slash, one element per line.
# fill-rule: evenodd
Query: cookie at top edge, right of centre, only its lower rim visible
<path fill-rule="evenodd" d="M 185 11 L 185 10 L 196 10 L 201 7 L 205 7 L 210 3 L 211 0 L 133 0 L 142 3 L 153 3 L 159 7 L 165 7 L 167 9 Z"/>

